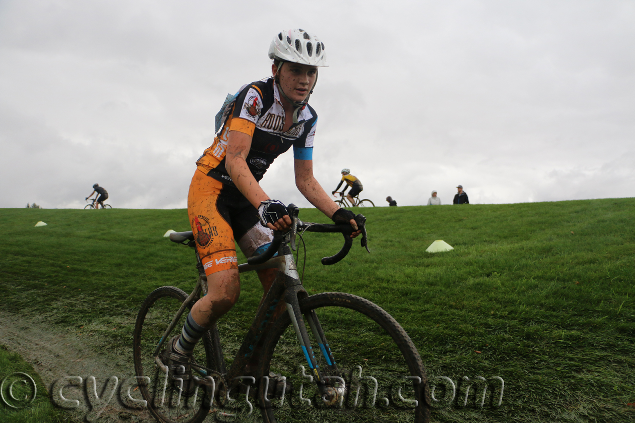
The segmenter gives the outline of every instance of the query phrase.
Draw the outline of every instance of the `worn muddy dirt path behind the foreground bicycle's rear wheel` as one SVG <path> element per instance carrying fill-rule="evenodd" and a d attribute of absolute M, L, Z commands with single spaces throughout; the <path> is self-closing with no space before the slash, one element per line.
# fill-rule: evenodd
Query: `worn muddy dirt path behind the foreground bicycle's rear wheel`
<path fill-rule="evenodd" d="M 128 386 L 133 383 L 130 378 L 134 375 L 131 347 L 130 359 L 121 359 L 105 353 L 104 342 L 98 337 L 79 339 L 75 333 L 47 325 L 39 316 L 29 319 L 0 311 L 0 321 L 0 344 L 20 354 L 35 368 L 51 401 L 68 409 L 66 414 L 76 422 L 156 421 L 144 408 L 126 400 Z M 81 383 L 78 377 L 81 377 Z M 96 386 L 98 398 L 95 398 L 93 386 Z M 60 398 L 60 388 L 67 401 Z M 131 395 L 140 399 L 138 389 Z M 72 400 L 76 401 L 73 403 Z"/>

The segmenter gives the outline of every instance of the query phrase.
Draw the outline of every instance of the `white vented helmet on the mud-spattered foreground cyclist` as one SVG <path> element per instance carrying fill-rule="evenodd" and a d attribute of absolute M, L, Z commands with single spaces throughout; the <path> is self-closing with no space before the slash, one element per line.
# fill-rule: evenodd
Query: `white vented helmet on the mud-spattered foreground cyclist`
<path fill-rule="evenodd" d="M 304 29 L 283 30 L 277 34 L 269 46 L 269 58 L 328 67 L 324 43 Z"/>

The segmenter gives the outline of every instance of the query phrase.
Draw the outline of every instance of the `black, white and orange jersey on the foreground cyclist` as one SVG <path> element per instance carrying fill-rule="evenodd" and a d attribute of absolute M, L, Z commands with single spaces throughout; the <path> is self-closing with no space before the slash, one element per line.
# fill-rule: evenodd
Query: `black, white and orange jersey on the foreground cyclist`
<path fill-rule="evenodd" d="M 246 163 L 257 181 L 274 159 L 293 145 L 293 156 L 300 160 L 311 160 L 313 138 L 318 115 L 310 105 L 298 112 L 298 123 L 283 132 L 285 113 L 277 84 L 272 78 L 248 84 L 237 93 L 236 100 L 229 103 L 225 122 L 214 138 L 210 148 L 196 162 L 199 170 L 224 184 L 234 185 L 225 168 L 227 135 L 239 131 L 251 137 L 251 149 Z"/>

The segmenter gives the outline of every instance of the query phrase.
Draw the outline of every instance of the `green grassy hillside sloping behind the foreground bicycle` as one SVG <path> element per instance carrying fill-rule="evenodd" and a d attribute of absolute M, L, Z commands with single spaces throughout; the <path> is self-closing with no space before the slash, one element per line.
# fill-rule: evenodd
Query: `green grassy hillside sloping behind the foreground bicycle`
<path fill-rule="evenodd" d="M 634 210 L 635 199 L 363 209 L 372 253 L 356 242 L 344 262 L 324 267 L 319 258 L 341 237 L 306 234 L 304 285 L 384 307 L 431 382 L 505 380 L 502 405 L 481 408 L 472 394 L 464 406 L 457 391 L 453 403 L 434 404 L 434 421 L 632 422 Z M 300 218 L 327 221 L 311 209 Z M 107 341 L 106 354 L 131 361 L 145 295 L 194 285 L 194 254 L 163 238 L 168 229 L 189 229 L 185 210 L 0 209 L 1 309 L 83 326 Z M 425 253 L 435 239 L 454 250 Z M 261 295 L 245 275 L 222 330 L 246 328 Z"/>

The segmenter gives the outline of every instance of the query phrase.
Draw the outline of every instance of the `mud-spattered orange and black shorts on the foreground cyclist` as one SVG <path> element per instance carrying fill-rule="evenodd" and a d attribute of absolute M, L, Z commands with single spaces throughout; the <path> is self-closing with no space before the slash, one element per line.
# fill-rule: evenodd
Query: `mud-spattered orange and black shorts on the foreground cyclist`
<path fill-rule="evenodd" d="M 258 210 L 236 187 L 196 170 L 187 196 L 187 214 L 205 274 L 237 269 L 236 245 L 245 257 L 260 254 L 273 238 Z"/>

